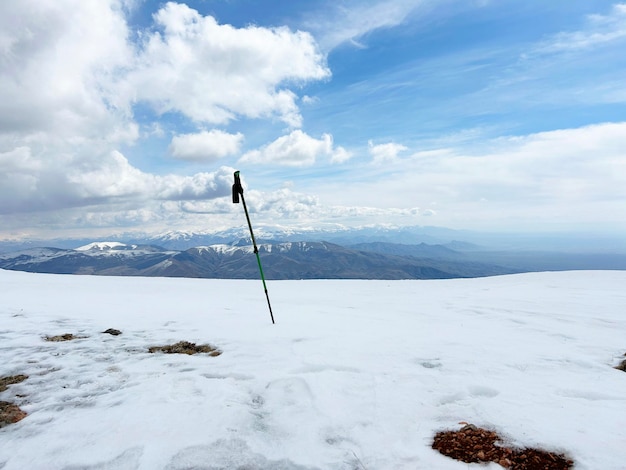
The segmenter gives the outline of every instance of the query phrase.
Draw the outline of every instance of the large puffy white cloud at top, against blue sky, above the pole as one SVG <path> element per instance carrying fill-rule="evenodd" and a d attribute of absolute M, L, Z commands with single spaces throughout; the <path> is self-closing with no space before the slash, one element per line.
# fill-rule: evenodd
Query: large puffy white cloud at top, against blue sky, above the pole
<path fill-rule="evenodd" d="M 276 116 L 298 127 L 297 96 L 288 86 L 330 76 L 324 56 L 305 32 L 220 25 L 172 2 L 154 20 L 160 31 L 144 37 L 126 93 L 159 113 L 175 111 L 214 124 L 237 116 Z"/>

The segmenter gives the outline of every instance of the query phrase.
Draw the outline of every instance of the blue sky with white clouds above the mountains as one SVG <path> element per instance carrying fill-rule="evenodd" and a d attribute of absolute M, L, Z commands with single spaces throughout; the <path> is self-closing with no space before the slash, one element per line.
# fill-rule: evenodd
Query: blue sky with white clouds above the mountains
<path fill-rule="evenodd" d="M 0 4 L 0 239 L 626 234 L 626 3 Z"/>

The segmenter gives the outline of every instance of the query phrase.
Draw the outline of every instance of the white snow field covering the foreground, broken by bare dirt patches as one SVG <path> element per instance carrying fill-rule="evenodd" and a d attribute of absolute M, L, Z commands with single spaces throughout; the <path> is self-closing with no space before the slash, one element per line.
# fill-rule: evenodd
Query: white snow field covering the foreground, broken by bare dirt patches
<path fill-rule="evenodd" d="M 429 281 L 0 270 L 0 468 L 468 469 L 461 421 L 626 468 L 626 272 Z M 123 331 L 121 336 L 101 332 Z M 83 339 L 44 341 L 73 333 Z M 219 357 L 149 354 L 187 340 Z"/>

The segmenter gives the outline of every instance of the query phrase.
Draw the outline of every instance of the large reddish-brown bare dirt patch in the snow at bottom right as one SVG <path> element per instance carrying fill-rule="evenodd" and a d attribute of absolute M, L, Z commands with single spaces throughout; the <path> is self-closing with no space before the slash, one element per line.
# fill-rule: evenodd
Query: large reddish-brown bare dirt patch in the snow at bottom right
<path fill-rule="evenodd" d="M 432 447 L 462 462 L 496 462 L 512 470 L 568 470 L 574 465 L 572 460 L 554 452 L 506 447 L 495 432 L 473 424 L 459 431 L 437 433 Z"/>

